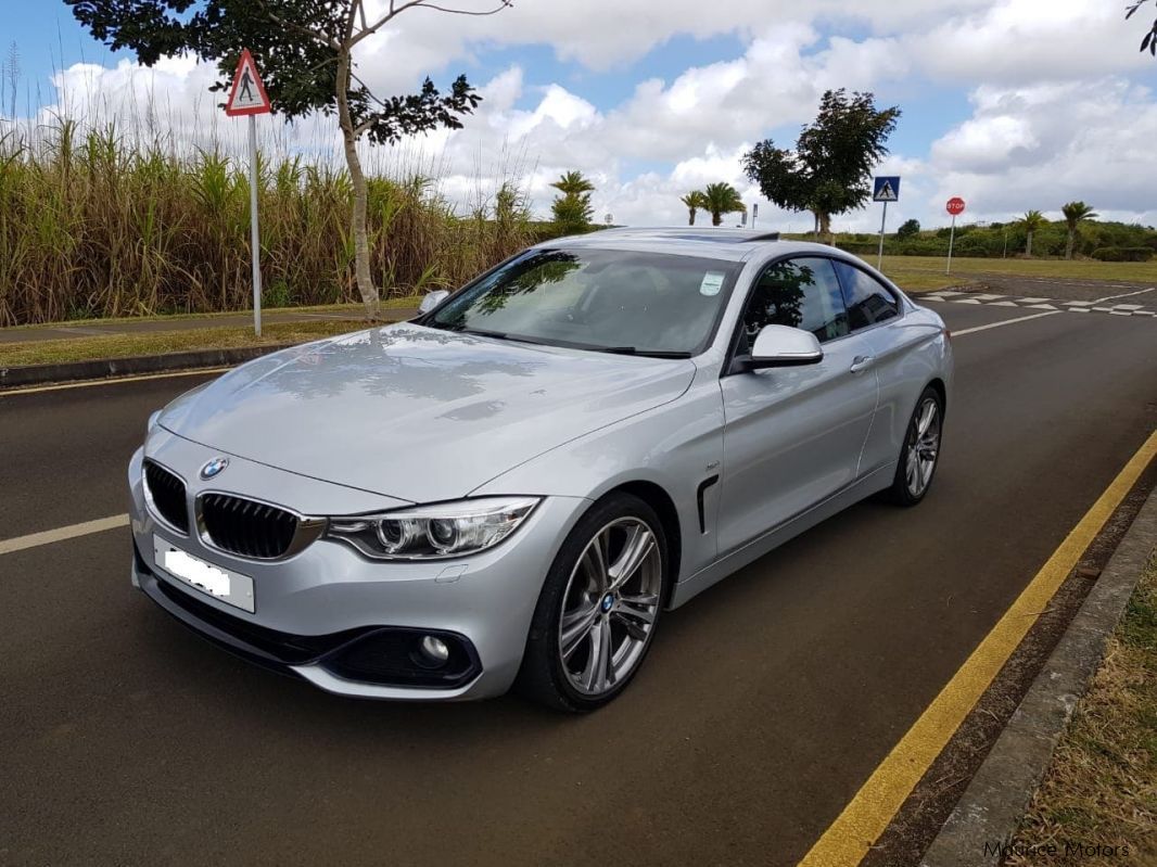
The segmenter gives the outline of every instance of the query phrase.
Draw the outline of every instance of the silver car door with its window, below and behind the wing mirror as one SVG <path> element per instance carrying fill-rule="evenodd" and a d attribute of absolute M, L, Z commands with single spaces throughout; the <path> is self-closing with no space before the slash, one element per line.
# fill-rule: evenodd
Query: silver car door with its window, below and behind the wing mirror
<path fill-rule="evenodd" d="M 797 257 L 764 269 L 743 312 L 739 353 L 749 350 L 765 325 L 812 332 L 824 358 L 805 366 L 730 373 L 720 380 L 721 554 L 852 484 L 876 412 L 871 353 L 849 332 L 830 259 Z"/>

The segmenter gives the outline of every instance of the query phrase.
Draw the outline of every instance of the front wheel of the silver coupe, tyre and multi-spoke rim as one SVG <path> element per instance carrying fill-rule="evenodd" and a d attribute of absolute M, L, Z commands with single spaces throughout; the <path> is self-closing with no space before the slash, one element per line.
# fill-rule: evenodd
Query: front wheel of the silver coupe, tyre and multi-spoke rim
<path fill-rule="evenodd" d="M 642 499 L 616 492 L 592 505 L 546 575 L 515 689 L 569 713 L 614 699 L 650 650 L 669 562 L 663 525 Z"/>

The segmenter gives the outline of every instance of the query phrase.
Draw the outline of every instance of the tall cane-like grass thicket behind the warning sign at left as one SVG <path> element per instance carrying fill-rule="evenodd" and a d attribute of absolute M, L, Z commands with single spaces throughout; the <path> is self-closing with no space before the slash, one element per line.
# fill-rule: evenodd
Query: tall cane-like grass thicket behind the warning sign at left
<path fill-rule="evenodd" d="M 265 303 L 359 301 L 346 172 L 261 157 Z M 371 269 L 383 297 L 460 286 L 532 243 L 517 185 L 478 198 L 458 214 L 435 177 L 370 178 Z M 246 161 L 178 153 L 160 135 L 113 125 L 0 120 L 0 326 L 245 310 L 249 274 Z"/>

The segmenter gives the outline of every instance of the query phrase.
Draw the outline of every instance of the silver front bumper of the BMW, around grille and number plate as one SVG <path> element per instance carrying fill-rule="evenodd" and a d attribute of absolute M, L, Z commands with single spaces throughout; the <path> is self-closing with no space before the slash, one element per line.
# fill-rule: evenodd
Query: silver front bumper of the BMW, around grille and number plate
<path fill-rule="evenodd" d="M 180 475 L 190 499 L 215 453 L 154 431 L 149 457 Z M 185 625 L 253 662 L 362 698 L 451 701 L 501 695 L 514 682 L 543 579 L 589 502 L 548 497 L 510 539 L 470 557 L 374 562 L 319 540 L 278 562 L 237 557 L 155 519 L 141 484 L 143 450 L 128 467 L 134 586 Z M 391 507 L 377 495 L 231 458 L 229 489 L 308 514 Z M 220 489 L 222 479 L 215 479 Z M 344 505 L 341 505 L 344 503 Z M 252 614 L 201 593 L 159 566 L 153 536 L 253 579 Z M 443 638 L 451 665 L 417 681 L 393 665 L 421 636 Z M 376 661 L 377 660 L 377 661 Z M 392 660 L 392 661 L 391 661 Z M 379 664 L 378 664 L 379 662 Z M 404 668 L 405 666 L 403 666 Z M 412 668 L 412 666 L 411 666 Z"/>

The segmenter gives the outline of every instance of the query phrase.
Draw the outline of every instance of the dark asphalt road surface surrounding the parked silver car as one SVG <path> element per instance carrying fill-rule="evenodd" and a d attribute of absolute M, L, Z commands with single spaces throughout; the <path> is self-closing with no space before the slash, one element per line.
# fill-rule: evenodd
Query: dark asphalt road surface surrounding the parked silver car
<path fill-rule="evenodd" d="M 252 668 L 130 587 L 125 529 L 0 555 L 0 864 L 794 864 L 1157 424 L 1157 320 L 955 344 L 929 498 L 855 506 L 672 613 L 585 718 Z M 0 538 L 124 512 L 148 413 L 197 381 L 0 398 Z"/>

